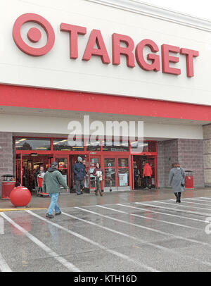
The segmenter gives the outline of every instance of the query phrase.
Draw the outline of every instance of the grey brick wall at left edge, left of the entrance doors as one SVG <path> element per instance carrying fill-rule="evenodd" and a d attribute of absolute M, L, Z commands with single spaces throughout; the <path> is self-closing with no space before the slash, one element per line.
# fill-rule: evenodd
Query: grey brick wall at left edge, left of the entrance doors
<path fill-rule="evenodd" d="M 14 175 L 14 168 L 13 135 L 11 132 L 0 132 L 0 179 L 5 174 Z"/>

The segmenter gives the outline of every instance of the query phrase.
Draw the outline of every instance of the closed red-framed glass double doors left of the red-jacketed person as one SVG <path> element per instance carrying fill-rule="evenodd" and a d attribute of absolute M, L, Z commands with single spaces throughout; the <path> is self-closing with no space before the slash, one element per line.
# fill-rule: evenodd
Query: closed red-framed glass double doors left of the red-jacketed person
<path fill-rule="evenodd" d="M 105 156 L 105 191 L 130 190 L 129 156 Z"/>

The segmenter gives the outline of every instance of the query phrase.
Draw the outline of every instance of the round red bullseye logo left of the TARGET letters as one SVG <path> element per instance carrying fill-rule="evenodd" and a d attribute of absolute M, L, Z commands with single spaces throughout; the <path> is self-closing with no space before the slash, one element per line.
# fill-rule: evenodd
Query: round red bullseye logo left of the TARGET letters
<path fill-rule="evenodd" d="M 41 48 L 33 48 L 32 46 L 29 46 L 23 41 L 20 35 L 20 29 L 23 24 L 28 22 L 37 23 L 44 28 L 47 35 L 47 42 L 45 46 L 42 46 Z M 37 27 L 30 28 L 30 30 L 27 32 L 27 38 L 32 43 L 39 42 L 39 40 L 41 39 L 40 30 L 37 29 Z M 26 13 L 20 15 L 20 17 L 18 17 L 18 19 L 15 21 L 15 24 L 13 25 L 13 39 L 18 48 L 25 54 L 28 54 L 30 56 L 43 56 L 44 54 L 47 54 L 49 51 L 51 51 L 55 42 L 55 33 L 51 24 L 45 18 L 41 17 L 41 15 L 34 13 Z"/>

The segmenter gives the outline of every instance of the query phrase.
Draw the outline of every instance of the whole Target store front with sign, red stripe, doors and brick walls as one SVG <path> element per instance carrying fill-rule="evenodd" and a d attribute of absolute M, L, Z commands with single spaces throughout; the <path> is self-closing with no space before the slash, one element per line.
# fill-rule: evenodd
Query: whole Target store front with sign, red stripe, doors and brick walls
<path fill-rule="evenodd" d="M 146 161 L 151 185 L 168 187 L 179 161 L 195 187 L 211 186 L 209 22 L 128 0 L 0 6 L 0 175 L 33 190 L 39 167 L 58 161 L 72 190 L 82 156 L 89 191 L 96 163 L 103 189 L 122 191 L 143 188 Z M 95 142 L 82 130 L 82 144 L 70 146 L 69 123 L 83 125 L 84 116 L 93 124 L 143 121 L 143 150 L 115 134 L 106 144 L 101 130 Z"/>

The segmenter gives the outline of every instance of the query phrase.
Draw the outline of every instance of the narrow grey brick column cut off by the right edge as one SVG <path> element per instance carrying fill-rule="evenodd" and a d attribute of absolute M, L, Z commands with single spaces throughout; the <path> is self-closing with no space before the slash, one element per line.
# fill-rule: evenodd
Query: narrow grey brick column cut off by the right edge
<path fill-rule="evenodd" d="M 211 187 L 211 124 L 203 126 L 205 187 Z"/>

